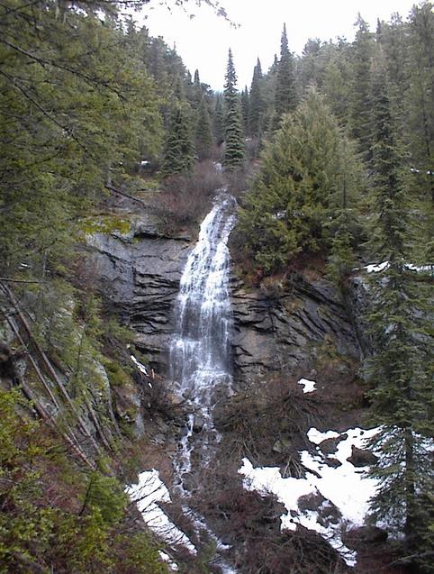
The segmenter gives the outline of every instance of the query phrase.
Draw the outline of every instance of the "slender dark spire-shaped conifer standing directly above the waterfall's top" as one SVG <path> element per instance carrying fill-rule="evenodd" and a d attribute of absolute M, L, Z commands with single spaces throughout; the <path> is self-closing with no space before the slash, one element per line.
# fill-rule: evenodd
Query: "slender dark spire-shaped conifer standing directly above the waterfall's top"
<path fill-rule="evenodd" d="M 244 137 L 240 96 L 237 91 L 237 74 L 233 65 L 232 51 L 229 50 L 226 82 L 224 85 L 224 137 L 225 150 L 223 165 L 226 168 L 240 166 L 244 159 Z"/>

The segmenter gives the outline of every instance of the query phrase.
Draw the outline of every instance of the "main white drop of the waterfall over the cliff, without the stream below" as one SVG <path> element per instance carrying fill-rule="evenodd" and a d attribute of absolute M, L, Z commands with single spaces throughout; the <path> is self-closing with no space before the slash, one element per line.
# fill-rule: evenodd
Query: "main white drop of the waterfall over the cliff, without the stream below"
<path fill-rule="evenodd" d="M 235 199 L 222 193 L 201 225 L 176 301 L 176 338 L 170 349 L 172 378 L 184 394 L 205 396 L 231 378 L 231 304 L 228 293 L 229 234 Z"/>

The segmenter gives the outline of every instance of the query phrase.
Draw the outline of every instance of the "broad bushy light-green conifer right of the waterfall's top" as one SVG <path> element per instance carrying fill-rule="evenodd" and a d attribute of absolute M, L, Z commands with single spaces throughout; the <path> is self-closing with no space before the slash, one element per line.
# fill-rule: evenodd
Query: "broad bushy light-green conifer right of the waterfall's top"
<path fill-rule="evenodd" d="M 343 189 L 348 208 L 359 185 L 357 158 L 312 89 L 267 145 L 240 209 L 240 233 L 258 265 L 271 272 L 300 251 L 327 247 Z"/>

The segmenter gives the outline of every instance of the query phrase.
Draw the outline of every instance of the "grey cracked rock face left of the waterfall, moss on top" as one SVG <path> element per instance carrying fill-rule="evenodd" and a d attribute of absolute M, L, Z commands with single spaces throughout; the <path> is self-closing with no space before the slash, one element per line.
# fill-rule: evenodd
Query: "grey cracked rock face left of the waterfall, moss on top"
<path fill-rule="evenodd" d="M 128 234 L 95 233 L 87 245 L 103 296 L 137 333 L 136 346 L 148 356 L 149 366 L 164 372 L 175 328 L 173 304 L 190 239 L 162 235 L 155 222 L 141 217 Z"/>

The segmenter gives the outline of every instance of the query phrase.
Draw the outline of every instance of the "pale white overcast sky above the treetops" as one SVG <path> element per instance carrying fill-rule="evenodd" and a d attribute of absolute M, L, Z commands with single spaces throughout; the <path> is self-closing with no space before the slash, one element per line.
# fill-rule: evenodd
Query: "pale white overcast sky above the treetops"
<path fill-rule="evenodd" d="M 297 54 L 309 38 L 327 41 L 337 37 L 352 40 L 357 13 L 375 31 L 376 19 L 389 20 L 398 12 L 405 20 L 414 0 L 221 0 L 231 20 L 240 23 L 234 29 L 210 8 L 194 8 L 188 3 L 183 11 L 158 5 L 152 0 L 134 17 L 144 23 L 153 36 L 163 36 L 176 51 L 192 75 L 199 69 L 201 80 L 212 89 L 222 89 L 231 47 L 238 74 L 238 87 L 250 86 L 257 58 L 263 71 L 280 50 L 280 36 L 286 23 L 289 49 Z M 191 13 L 196 14 L 194 18 Z M 146 20 L 144 19 L 146 18 Z"/>

